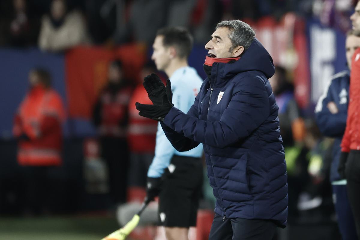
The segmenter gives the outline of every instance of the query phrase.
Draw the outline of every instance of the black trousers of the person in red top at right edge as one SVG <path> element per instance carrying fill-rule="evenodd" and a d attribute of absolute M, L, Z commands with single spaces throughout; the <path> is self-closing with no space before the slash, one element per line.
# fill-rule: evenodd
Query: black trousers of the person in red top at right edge
<path fill-rule="evenodd" d="M 360 151 L 351 150 L 345 168 L 347 195 L 360 239 Z"/>

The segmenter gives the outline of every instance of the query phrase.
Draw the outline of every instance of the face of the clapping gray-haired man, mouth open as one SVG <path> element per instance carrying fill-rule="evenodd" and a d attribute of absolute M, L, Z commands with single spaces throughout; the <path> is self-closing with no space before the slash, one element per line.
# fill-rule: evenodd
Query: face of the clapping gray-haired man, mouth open
<path fill-rule="evenodd" d="M 232 46 L 229 38 L 230 30 L 228 27 L 219 27 L 211 35 L 211 40 L 205 45 L 208 54 L 213 58 L 233 58 L 237 57 L 235 50 L 229 52 Z"/>

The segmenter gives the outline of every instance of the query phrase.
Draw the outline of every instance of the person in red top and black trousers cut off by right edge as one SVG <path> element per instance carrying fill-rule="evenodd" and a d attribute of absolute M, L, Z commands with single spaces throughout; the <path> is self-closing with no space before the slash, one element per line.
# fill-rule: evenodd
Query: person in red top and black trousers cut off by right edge
<path fill-rule="evenodd" d="M 352 30 L 360 36 L 360 1 L 351 15 Z M 341 178 L 346 178 L 346 189 L 355 219 L 357 238 L 360 239 L 360 48 L 352 56 L 349 104 L 345 133 L 341 141 L 341 154 L 338 172 Z"/>

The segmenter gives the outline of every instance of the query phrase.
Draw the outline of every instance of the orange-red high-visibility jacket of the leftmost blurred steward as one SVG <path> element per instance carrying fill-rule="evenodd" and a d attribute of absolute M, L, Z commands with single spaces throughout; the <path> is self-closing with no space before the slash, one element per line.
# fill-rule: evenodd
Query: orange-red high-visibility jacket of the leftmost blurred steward
<path fill-rule="evenodd" d="M 62 122 L 65 111 L 59 94 L 33 87 L 19 106 L 13 133 L 19 137 L 18 162 L 23 166 L 58 166 L 62 163 Z"/>

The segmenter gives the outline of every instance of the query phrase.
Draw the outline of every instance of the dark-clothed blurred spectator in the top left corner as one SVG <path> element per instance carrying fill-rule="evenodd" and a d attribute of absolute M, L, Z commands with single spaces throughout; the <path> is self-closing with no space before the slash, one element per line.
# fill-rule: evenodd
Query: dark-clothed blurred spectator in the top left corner
<path fill-rule="evenodd" d="M 26 0 L 13 0 L 10 9 L 1 16 L 0 44 L 12 47 L 36 46 L 39 18 L 31 14 Z"/>

